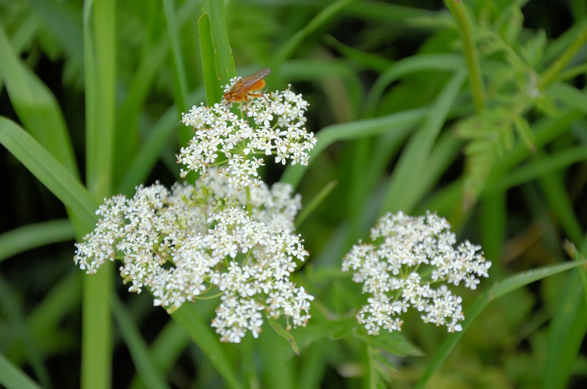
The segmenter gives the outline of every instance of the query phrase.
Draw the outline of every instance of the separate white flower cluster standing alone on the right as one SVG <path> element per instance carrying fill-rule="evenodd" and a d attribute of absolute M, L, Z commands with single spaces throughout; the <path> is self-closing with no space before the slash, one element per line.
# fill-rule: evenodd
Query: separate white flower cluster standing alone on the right
<path fill-rule="evenodd" d="M 342 271 L 352 269 L 353 281 L 363 283 L 363 293 L 371 296 L 357 313 L 359 323 L 369 334 L 383 329 L 401 330 L 399 317 L 407 308 L 423 312 L 424 322 L 444 325 L 448 332 L 462 330 L 462 299 L 446 285 L 464 282 L 477 288 L 479 277 L 488 277 L 490 261 L 481 247 L 469 241 L 456 248 L 456 237 L 443 217 L 407 216 L 401 211 L 382 217 L 371 230 L 372 244 L 354 245 L 343 258 Z M 360 242 L 359 242 L 360 243 Z"/>

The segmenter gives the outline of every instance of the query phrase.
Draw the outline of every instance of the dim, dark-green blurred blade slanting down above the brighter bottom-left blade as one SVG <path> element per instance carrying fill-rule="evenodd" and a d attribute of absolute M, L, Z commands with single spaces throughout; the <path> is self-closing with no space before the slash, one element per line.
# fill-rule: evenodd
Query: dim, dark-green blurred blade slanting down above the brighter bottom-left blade
<path fill-rule="evenodd" d="M 35 342 L 33 342 L 31 333 L 28 331 L 28 327 L 25 324 L 25 315 L 21 310 L 16 296 L 2 277 L 0 277 L 0 309 L 4 312 L 4 317 L 10 323 L 12 332 L 16 335 L 16 338 L 21 340 L 36 378 L 43 387 L 50 388 L 49 371 L 45 366 L 41 352 L 39 352 Z"/>

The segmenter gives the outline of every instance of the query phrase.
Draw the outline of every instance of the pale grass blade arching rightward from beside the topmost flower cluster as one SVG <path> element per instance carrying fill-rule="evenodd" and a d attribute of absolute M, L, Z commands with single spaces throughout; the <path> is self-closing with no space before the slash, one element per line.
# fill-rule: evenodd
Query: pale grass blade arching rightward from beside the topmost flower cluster
<path fill-rule="evenodd" d="M 322 151 L 336 141 L 349 141 L 351 139 L 371 137 L 373 135 L 383 134 L 387 131 L 394 131 L 396 128 L 415 125 L 425 117 L 426 112 L 426 108 L 417 108 L 415 110 L 397 112 L 379 118 L 358 120 L 325 127 L 321 129 L 318 135 L 316 135 L 318 142 L 309 152 L 309 164 L 316 159 L 316 156 L 320 155 Z M 308 167 L 309 165 L 288 166 L 281 178 L 281 182 L 289 183 L 294 189 L 296 189 L 299 182 L 302 180 L 304 173 L 308 170 Z"/>

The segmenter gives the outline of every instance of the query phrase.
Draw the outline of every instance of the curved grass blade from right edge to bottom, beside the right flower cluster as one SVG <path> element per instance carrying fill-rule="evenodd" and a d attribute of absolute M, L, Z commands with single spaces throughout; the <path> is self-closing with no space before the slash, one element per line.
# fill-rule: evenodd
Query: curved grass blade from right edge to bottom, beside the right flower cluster
<path fill-rule="evenodd" d="M 434 357 L 430 361 L 426 372 L 420 378 L 420 381 L 416 385 L 416 389 L 423 389 L 428 384 L 430 378 L 436 373 L 441 364 L 446 360 L 448 354 L 454 349 L 458 341 L 463 337 L 464 332 L 471 326 L 471 323 L 477 318 L 479 313 L 485 309 L 485 307 L 494 299 L 500 298 L 501 296 L 514 291 L 515 289 L 521 288 L 522 286 L 531 284 L 539 279 L 549 277 L 551 275 L 558 274 L 562 271 L 572 269 L 579 265 L 584 265 L 585 262 L 567 262 L 564 264 L 552 265 L 548 267 L 542 267 L 538 269 L 532 269 L 529 271 L 521 272 L 516 275 L 512 275 L 499 282 L 495 286 L 492 286 L 487 292 L 485 292 L 480 298 L 465 309 L 465 320 L 463 322 L 463 330 L 454 334 L 449 334 L 447 340 L 444 341 L 440 349 L 434 354 Z"/>

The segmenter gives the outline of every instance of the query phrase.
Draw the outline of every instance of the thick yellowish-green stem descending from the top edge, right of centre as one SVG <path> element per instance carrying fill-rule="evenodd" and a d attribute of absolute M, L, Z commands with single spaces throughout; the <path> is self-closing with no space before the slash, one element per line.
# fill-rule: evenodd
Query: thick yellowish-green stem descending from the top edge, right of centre
<path fill-rule="evenodd" d="M 458 32 L 463 41 L 463 53 L 469 71 L 469 84 L 471 86 L 471 93 L 473 93 L 473 101 L 477 111 L 481 111 L 487 105 L 487 95 L 485 94 L 483 77 L 481 77 L 479 54 L 477 53 L 477 47 L 475 47 L 473 39 L 471 21 L 468 18 L 463 3 L 454 2 L 454 0 L 444 0 L 444 4 L 446 4 L 457 21 Z"/>

